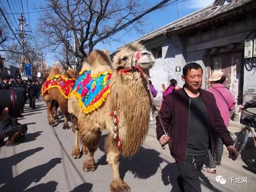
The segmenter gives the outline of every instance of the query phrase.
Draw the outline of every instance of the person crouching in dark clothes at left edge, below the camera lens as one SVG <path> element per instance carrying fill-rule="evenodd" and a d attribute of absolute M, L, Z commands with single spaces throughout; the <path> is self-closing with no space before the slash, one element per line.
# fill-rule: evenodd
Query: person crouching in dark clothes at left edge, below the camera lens
<path fill-rule="evenodd" d="M 18 137 L 26 133 L 27 126 L 22 126 L 18 123 L 18 118 L 13 116 L 7 116 L 7 118 L 0 122 L 0 139 L 9 137 L 6 141 L 5 146 L 15 146 L 20 144 L 18 142 Z"/>

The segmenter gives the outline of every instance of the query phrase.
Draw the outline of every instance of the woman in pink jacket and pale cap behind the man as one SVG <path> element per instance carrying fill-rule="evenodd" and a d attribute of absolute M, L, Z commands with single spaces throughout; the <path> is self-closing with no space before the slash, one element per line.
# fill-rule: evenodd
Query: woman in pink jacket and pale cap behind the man
<path fill-rule="evenodd" d="M 222 116 L 224 123 L 228 128 L 229 112 L 234 110 L 236 101 L 232 93 L 223 85 L 226 80 L 226 76 L 223 72 L 214 72 L 209 80 L 211 83 L 211 88 L 208 91 L 214 95 L 216 99 L 216 104 L 220 110 L 220 115 Z M 216 165 L 220 166 L 222 153 L 223 143 L 222 140 L 218 138 L 216 143 L 216 157 L 214 159 L 210 150 L 208 150 L 207 156 L 209 159 L 209 167 L 204 167 L 203 170 L 211 174 L 216 174 Z"/>

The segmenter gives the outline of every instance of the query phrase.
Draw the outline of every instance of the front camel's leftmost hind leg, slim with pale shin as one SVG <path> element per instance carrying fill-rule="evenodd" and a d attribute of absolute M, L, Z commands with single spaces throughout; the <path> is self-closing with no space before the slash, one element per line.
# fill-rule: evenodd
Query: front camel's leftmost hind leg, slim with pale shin
<path fill-rule="evenodd" d="M 73 151 L 72 151 L 72 157 L 74 159 L 76 158 L 80 158 L 82 157 L 82 152 L 80 152 L 80 148 L 79 148 L 79 143 L 78 143 L 78 134 L 79 134 L 79 131 L 78 131 L 78 119 L 76 118 L 76 116 L 70 114 L 70 118 L 71 118 L 71 121 L 72 121 L 72 130 L 75 134 L 75 145 L 73 147 Z"/>

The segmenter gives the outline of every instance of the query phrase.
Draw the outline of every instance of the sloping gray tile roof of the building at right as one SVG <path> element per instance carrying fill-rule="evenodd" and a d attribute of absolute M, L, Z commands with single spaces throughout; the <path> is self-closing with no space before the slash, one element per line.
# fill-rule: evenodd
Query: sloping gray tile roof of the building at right
<path fill-rule="evenodd" d="M 216 0 L 213 4 L 207 6 L 206 8 L 203 8 L 183 18 L 180 18 L 179 20 L 171 22 L 170 24 L 158 28 L 157 30 L 154 30 L 132 42 L 147 41 L 166 32 L 180 30 L 184 27 L 188 27 L 196 23 L 200 23 L 204 20 L 213 18 L 219 14 L 223 14 L 224 12 L 242 6 L 243 4 L 246 4 L 250 1 L 254 0 L 229 0 L 229 3 L 225 2 L 225 0 Z"/>

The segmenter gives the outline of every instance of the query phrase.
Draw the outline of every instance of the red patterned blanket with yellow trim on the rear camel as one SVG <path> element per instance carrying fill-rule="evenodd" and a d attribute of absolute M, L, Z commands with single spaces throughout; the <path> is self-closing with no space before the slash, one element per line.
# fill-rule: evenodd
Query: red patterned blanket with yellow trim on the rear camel
<path fill-rule="evenodd" d="M 44 82 L 42 86 L 42 95 L 44 96 L 50 88 L 58 87 L 64 98 L 69 99 L 75 83 L 75 78 L 69 79 L 60 74 L 55 75 Z"/>

